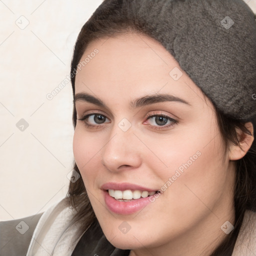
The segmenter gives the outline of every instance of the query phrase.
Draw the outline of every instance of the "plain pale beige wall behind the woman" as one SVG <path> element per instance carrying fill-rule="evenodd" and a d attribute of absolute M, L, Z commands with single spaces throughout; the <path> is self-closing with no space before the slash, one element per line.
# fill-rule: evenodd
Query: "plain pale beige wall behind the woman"
<path fill-rule="evenodd" d="M 244 0 L 256 12 L 256 0 Z M 0 0 L 0 220 L 45 211 L 72 170 L 72 90 L 78 32 L 102 0 Z"/>

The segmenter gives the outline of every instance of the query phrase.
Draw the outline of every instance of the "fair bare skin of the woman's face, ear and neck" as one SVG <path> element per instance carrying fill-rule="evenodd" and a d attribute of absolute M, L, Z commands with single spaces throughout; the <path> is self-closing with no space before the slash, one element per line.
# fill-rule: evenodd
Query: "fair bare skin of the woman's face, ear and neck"
<path fill-rule="evenodd" d="M 253 138 L 243 137 L 242 150 L 232 144 L 225 150 L 210 100 L 154 39 L 134 32 L 101 38 L 88 45 L 81 59 L 95 48 L 98 54 L 76 74 L 75 93 L 89 93 L 107 108 L 82 100 L 75 107 L 78 119 L 92 113 L 106 118 L 87 119 L 96 127 L 77 120 L 73 153 L 103 233 L 114 246 L 131 249 L 130 256 L 210 255 L 227 235 L 220 226 L 234 223 L 233 160 L 246 153 Z M 182 71 L 176 81 L 169 75 L 174 67 Z M 130 108 L 131 100 L 154 93 L 189 104 L 166 101 Z M 161 126 L 154 117 L 146 120 L 148 113 L 177 122 Z M 118 127 L 123 118 L 131 124 L 127 131 Z M 105 205 L 103 183 L 160 189 L 198 151 L 200 156 L 141 211 L 121 215 Z M 131 227 L 125 234 L 118 228 L 123 221 Z"/>

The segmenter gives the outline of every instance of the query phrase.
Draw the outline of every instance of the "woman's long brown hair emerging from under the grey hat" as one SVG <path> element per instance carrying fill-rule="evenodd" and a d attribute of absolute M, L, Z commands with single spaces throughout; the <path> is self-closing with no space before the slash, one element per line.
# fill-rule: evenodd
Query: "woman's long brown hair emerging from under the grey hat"
<path fill-rule="evenodd" d="M 75 94 L 75 73 L 77 65 L 90 42 L 98 38 L 111 37 L 128 31 L 142 32 L 146 34 L 146 31 L 143 31 L 143 23 L 140 23 L 139 20 L 129 18 L 129 15 L 127 14 L 128 12 L 123 12 L 121 5 L 122 0 L 104 0 L 81 28 L 75 43 L 71 62 L 70 74 L 73 96 Z M 153 9 L 151 11 L 153 12 Z M 249 130 L 244 126 L 244 123 L 249 120 L 232 119 L 221 113 L 216 106 L 215 110 L 216 119 L 225 145 L 227 145 L 228 141 L 232 141 L 234 144 L 239 145 L 236 128 L 241 129 L 244 133 L 250 134 Z M 72 121 L 73 126 L 75 127 L 76 110 L 74 105 Z M 256 211 L 255 144 L 254 140 L 246 155 L 243 158 L 236 160 L 236 178 L 233 198 L 235 208 L 234 229 L 214 250 L 211 256 L 231 255 L 245 211 L 247 209 Z M 75 162 L 73 169 L 80 174 Z M 96 217 L 88 199 L 82 178 L 79 178 L 74 183 L 70 181 L 66 197 L 69 198 L 69 206 L 75 211 L 74 221 L 82 220 L 81 228 L 85 230 Z"/>

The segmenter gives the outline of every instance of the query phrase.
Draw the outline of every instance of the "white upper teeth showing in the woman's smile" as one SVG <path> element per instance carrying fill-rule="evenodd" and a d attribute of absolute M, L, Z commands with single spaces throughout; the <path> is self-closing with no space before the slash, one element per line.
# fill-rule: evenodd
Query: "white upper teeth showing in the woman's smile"
<path fill-rule="evenodd" d="M 108 189 L 108 194 L 114 197 L 118 201 L 130 201 L 131 199 L 138 199 L 140 197 L 145 198 L 147 196 L 155 194 L 155 191 L 141 191 L 141 190 L 114 190 Z"/>

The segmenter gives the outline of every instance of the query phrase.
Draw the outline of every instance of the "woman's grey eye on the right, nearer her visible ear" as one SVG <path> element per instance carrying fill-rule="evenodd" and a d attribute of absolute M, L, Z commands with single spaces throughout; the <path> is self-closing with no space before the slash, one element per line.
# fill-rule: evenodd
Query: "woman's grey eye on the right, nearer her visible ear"
<path fill-rule="evenodd" d="M 146 117 L 146 120 L 151 119 L 150 125 L 154 126 L 154 129 L 163 129 L 169 126 L 173 126 L 175 123 L 177 123 L 177 120 L 162 113 L 151 113 L 147 114 Z M 154 125 L 153 123 L 156 123 L 156 125 Z"/>

